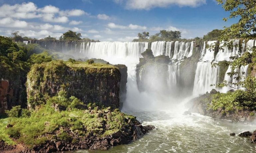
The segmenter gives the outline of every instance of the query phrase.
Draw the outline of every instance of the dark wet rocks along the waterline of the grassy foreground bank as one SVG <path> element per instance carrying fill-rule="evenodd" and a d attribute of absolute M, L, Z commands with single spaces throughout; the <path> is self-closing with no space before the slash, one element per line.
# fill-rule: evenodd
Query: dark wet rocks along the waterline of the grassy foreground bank
<path fill-rule="evenodd" d="M 95 110 L 92 110 L 95 111 Z M 98 114 L 101 113 L 104 115 L 104 111 L 98 111 Z M 115 133 L 102 137 L 102 135 L 96 135 L 91 132 L 88 133 L 87 136 L 81 137 L 78 133 L 71 131 L 69 128 L 63 128 L 62 130 L 69 134 L 72 140 L 76 140 L 75 142 L 71 140 L 70 142 L 63 142 L 58 139 L 47 141 L 45 144 L 41 144 L 38 146 L 33 146 L 32 149 L 28 149 L 27 147 L 23 148 L 23 153 L 50 153 L 50 152 L 64 152 L 71 150 L 80 150 L 80 149 L 93 149 L 93 150 L 108 150 L 109 148 L 121 144 L 129 144 L 132 141 L 135 141 L 141 138 L 145 133 L 150 130 L 153 130 L 155 127 L 151 125 L 142 126 L 139 121 L 136 119 L 128 119 L 128 126 L 122 127 L 120 130 Z M 105 124 L 105 123 L 104 123 Z M 103 126 L 104 127 L 104 126 Z M 107 127 L 104 127 L 107 128 Z M 59 131 L 56 131 L 57 134 Z M 4 145 L 5 148 L 8 146 Z M 1 149 L 1 141 L 0 141 L 0 149 Z M 10 146 L 12 147 L 12 146 Z M 2 149 L 3 150 L 3 149 Z M 12 150 L 12 148 L 10 148 Z M 1 152 L 1 151 L 0 151 Z"/>

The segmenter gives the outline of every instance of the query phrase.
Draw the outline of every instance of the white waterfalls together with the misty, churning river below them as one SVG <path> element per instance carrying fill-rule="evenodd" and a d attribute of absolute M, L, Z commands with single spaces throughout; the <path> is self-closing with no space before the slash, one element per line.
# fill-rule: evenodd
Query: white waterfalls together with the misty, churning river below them
<path fill-rule="evenodd" d="M 213 42 L 208 42 L 207 44 L 211 43 Z M 152 43 L 151 49 L 154 50 L 153 53 L 156 55 L 166 55 L 173 60 L 182 60 L 185 56 L 192 56 L 193 45 L 193 42 L 190 44 L 158 42 L 154 45 Z M 255 150 L 251 143 L 245 143 L 244 138 L 231 137 L 228 134 L 252 130 L 255 128 L 253 124 L 251 126 L 249 124 L 236 124 L 234 126 L 233 123 L 214 120 L 198 114 L 183 115 L 186 110 L 182 107 L 183 102 L 171 98 L 173 94 L 176 94 L 177 82 L 181 78 L 179 65 L 167 65 L 164 68 L 166 72 L 161 72 L 167 79 L 163 80 L 167 86 L 166 90 L 169 95 L 167 98 L 162 94 L 165 92 L 163 90 L 154 92 L 139 91 L 135 69 L 141 57 L 140 54 L 147 48 L 148 43 L 81 43 L 80 53 L 84 54 L 85 57 L 101 58 L 111 64 L 125 64 L 128 67 L 127 102 L 124 103 L 122 111 L 137 116 L 137 119 L 144 125 L 155 125 L 158 128 L 138 141 L 113 147 L 107 152 L 253 152 Z M 224 50 L 215 59 L 214 52 L 210 52 L 206 48 L 206 43 L 204 43 L 201 51 L 202 56 L 196 67 L 193 94 L 205 93 L 213 88 L 210 87 L 210 84 L 216 84 L 219 81 L 219 67 L 211 67 L 211 62 L 227 59 L 233 53 L 237 54 L 236 49 L 233 50 Z M 247 67 L 245 66 L 238 71 L 247 71 Z M 159 77 L 156 73 L 159 73 L 161 69 L 163 68 L 155 67 L 149 69 L 154 71 L 141 69 L 140 80 L 148 79 L 150 83 L 144 85 L 149 85 L 150 88 L 156 88 L 157 90 L 160 89 L 155 77 Z M 144 78 L 142 73 L 150 76 Z M 225 76 L 225 79 L 228 79 L 228 77 Z M 182 96 L 184 98 L 186 95 Z"/>

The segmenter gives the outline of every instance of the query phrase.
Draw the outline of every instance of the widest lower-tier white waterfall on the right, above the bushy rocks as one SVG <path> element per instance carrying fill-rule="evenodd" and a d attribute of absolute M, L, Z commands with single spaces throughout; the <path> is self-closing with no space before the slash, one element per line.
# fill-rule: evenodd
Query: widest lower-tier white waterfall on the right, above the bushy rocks
<path fill-rule="evenodd" d="M 219 81 L 219 67 L 212 67 L 211 63 L 198 62 L 195 72 L 193 95 L 203 94 L 206 91 L 211 91 L 211 84 L 216 84 Z"/>

